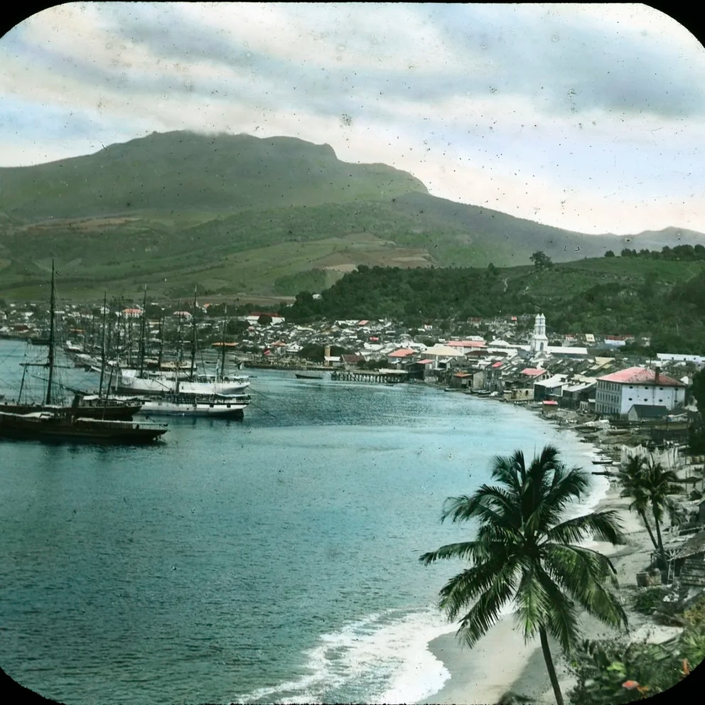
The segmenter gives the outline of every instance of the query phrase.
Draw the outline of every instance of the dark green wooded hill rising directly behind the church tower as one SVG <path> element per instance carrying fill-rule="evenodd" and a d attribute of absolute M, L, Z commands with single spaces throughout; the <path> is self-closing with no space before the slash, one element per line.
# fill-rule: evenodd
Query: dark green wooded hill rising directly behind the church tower
<path fill-rule="evenodd" d="M 593 266 L 601 263 L 602 270 Z M 650 338 L 650 349 L 631 348 L 635 353 L 702 353 L 705 267 L 668 264 L 667 279 L 620 257 L 550 269 L 358 267 L 321 298 L 300 292 L 286 315 L 296 321 L 393 318 L 417 328 L 438 319 L 544 313 L 549 332 Z"/>

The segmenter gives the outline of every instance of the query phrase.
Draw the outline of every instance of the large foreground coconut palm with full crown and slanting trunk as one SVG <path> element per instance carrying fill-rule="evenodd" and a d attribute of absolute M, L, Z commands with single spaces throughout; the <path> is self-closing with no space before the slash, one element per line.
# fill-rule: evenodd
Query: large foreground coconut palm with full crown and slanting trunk
<path fill-rule="evenodd" d="M 556 703 L 563 705 L 548 635 L 570 652 L 578 642 L 578 608 L 608 625 L 627 626 L 618 598 L 605 584 L 609 579 L 617 586 L 613 564 L 576 542 L 593 534 L 620 544 L 623 534 L 614 511 L 561 521 L 566 505 L 585 495 L 588 478 L 559 462 L 553 446 L 529 467 L 522 451 L 497 456 L 492 477 L 499 485 L 482 485 L 471 497 L 448 497 L 443 508 L 442 520 L 478 520 L 475 540 L 448 544 L 420 560 L 471 562 L 443 586 L 439 601 L 451 620 L 464 613 L 457 634 L 470 647 L 497 622 L 502 606 L 515 601 L 515 620 L 525 640 L 539 634 Z"/>

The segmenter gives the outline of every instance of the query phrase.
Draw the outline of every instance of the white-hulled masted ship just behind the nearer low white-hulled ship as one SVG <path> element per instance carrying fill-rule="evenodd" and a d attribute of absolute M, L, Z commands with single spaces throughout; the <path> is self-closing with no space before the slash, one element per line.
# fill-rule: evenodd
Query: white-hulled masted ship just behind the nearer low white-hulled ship
<path fill-rule="evenodd" d="M 119 372 L 117 392 L 119 394 L 194 394 L 210 397 L 212 395 L 237 395 L 243 394 L 249 387 L 249 378 L 243 375 L 228 377 L 225 375 L 225 321 L 223 321 L 223 344 L 221 348 L 221 361 L 215 375 L 198 375 L 195 364 L 197 348 L 196 340 L 196 293 L 193 293 L 192 341 L 191 362 L 188 377 L 179 375 L 181 362 L 177 362 L 173 372 L 146 372 L 144 365 L 140 367 L 124 368 Z M 144 313 L 143 313 L 144 318 Z M 144 348 L 141 348 L 141 360 L 144 360 Z"/>

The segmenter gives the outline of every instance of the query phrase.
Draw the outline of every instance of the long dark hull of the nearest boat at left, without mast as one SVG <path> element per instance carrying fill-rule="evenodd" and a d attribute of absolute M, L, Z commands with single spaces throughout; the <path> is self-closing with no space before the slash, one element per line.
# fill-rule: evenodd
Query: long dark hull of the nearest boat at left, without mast
<path fill-rule="evenodd" d="M 67 411 L 36 411 L 33 414 L 0 412 L 0 437 L 17 441 L 136 445 L 152 443 L 166 431 L 166 426 L 161 424 L 83 419 Z"/>

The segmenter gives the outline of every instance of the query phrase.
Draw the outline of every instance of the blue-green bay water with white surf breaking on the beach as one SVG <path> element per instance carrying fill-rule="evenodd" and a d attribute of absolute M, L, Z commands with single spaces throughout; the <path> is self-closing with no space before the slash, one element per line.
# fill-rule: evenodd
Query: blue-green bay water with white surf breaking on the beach
<path fill-rule="evenodd" d="M 38 350 L 0 340 L 0 394 Z M 163 419 L 154 446 L 0 440 L 17 682 L 66 705 L 419 701 L 450 677 L 428 645 L 456 629 L 438 591 L 463 568 L 419 556 L 473 537 L 443 500 L 519 448 L 591 467 L 591 446 L 513 404 L 250 372 L 242 421 Z M 603 495 L 593 481 L 570 512 Z"/>

